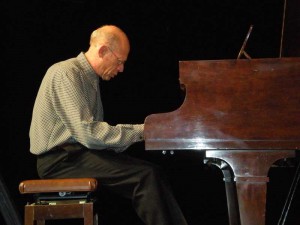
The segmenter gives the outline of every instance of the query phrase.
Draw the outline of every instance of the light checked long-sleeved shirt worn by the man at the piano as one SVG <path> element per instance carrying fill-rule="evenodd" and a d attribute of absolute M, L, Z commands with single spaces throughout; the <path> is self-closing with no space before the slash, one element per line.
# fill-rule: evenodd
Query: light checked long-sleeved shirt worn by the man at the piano
<path fill-rule="evenodd" d="M 33 107 L 30 152 L 39 155 L 73 142 L 121 152 L 142 141 L 143 131 L 144 124 L 111 126 L 103 121 L 99 76 L 80 53 L 46 72 Z"/>

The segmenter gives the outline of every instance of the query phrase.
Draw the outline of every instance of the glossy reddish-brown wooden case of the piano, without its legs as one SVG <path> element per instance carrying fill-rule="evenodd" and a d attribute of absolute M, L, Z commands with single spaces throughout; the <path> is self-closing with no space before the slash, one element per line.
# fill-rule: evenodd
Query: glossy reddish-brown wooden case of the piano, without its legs
<path fill-rule="evenodd" d="M 300 58 L 180 61 L 179 109 L 145 119 L 146 150 L 300 148 Z"/>

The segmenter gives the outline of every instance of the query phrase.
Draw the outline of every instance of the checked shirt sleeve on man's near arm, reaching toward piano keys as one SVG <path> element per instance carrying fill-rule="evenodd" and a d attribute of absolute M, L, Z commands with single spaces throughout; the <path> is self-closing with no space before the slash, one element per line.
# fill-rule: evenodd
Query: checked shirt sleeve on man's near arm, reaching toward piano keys
<path fill-rule="evenodd" d="M 62 73 L 56 79 L 52 87 L 53 106 L 58 118 L 76 141 L 91 149 L 123 151 L 144 139 L 144 124 L 111 126 L 97 120 L 94 109 L 97 90 L 89 80 L 73 71 Z"/>

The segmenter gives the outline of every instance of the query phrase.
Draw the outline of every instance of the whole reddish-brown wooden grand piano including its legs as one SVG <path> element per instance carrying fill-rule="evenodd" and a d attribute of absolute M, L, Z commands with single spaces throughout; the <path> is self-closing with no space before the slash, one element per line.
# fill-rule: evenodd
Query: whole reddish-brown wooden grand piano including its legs
<path fill-rule="evenodd" d="M 146 150 L 205 151 L 230 224 L 264 225 L 269 168 L 300 148 L 300 58 L 180 61 L 179 80 L 184 102 L 146 118 Z"/>

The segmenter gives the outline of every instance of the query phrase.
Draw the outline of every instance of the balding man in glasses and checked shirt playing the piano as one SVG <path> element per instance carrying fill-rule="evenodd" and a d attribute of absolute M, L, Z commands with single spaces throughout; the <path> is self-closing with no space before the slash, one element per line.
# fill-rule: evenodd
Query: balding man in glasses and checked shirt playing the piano
<path fill-rule="evenodd" d="M 111 126 L 103 121 L 99 77 L 123 72 L 130 51 L 126 34 L 105 25 L 90 47 L 51 66 L 38 91 L 30 127 L 30 151 L 41 178 L 95 177 L 132 200 L 147 225 L 186 225 L 158 166 L 122 154 L 143 141 L 143 124 Z"/>

